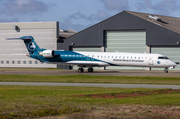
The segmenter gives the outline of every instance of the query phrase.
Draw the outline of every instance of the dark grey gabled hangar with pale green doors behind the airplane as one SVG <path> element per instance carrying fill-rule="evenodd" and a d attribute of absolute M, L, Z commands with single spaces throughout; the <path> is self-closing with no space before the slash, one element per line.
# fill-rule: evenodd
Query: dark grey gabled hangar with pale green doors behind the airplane
<path fill-rule="evenodd" d="M 180 62 L 180 18 L 122 11 L 58 43 L 66 51 L 160 53 Z M 76 68 L 58 65 L 58 68 Z M 107 67 L 107 69 L 144 69 Z M 154 69 L 156 70 L 156 69 Z M 175 70 L 180 70 L 177 66 Z"/>

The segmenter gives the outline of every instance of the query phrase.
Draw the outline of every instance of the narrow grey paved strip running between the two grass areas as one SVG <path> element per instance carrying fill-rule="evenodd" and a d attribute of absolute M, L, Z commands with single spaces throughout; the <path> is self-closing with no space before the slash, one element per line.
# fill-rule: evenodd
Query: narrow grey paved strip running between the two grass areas
<path fill-rule="evenodd" d="M 156 85 L 156 84 L 0 82 L 0 85 L 180 89 L 180 85 Z"/>

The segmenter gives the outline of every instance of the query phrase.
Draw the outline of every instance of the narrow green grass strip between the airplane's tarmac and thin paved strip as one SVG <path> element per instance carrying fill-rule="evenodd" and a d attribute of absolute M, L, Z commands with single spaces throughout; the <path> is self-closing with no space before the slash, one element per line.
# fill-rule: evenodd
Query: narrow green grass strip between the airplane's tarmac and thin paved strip
<path fill-rule="evenodd" d="M 180 85 L 180 77 L 91 76 L 91 75 L 0 75 L 5 82 L 120 83 Z"/>

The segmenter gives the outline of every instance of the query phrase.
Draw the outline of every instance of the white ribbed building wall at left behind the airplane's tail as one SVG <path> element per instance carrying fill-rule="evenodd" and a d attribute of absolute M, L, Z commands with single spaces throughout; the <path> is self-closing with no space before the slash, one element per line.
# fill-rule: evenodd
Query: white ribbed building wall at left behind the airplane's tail
<path fill-rule="evenodd" d="M 58 22 L 0 23 L 0 67 L 57 68 L 26 56 L 28 51 L 22 40 L 6 38 L 33 36 L 40 48 L 57 50 L 58 30 Z"/>

